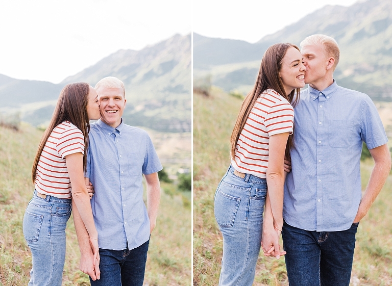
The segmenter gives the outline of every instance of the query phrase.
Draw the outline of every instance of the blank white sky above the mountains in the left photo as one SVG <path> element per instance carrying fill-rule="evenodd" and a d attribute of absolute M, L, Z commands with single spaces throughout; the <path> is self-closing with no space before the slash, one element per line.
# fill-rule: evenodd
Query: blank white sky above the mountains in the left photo
<path fill-rule="evenodd" d="M 119 49 L 191 32 L 190 0 L 0 0 L 0 73 L 59 83 Z"/>

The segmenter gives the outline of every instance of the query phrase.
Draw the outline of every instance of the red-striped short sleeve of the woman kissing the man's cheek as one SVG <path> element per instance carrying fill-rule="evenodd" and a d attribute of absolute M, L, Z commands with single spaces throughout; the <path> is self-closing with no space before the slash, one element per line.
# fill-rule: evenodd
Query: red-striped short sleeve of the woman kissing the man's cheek
<path fill-rule="evenodd" d="M 66 155 L 82 152 L 84 155 L 84 136 L 75 125 L 66 128 L 57 141 L 56 150 L 65 159 Z"/>

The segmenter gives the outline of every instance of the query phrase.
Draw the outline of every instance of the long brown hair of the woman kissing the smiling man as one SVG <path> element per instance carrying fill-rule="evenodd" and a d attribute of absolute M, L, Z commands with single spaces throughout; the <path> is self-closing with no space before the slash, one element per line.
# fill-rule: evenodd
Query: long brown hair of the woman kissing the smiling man
<path fill-rule="evenodd" d="M 51 135 L 53 129 L 63 121 L 70 121 L 82 131 L 84 136 L 84 157 L 83 170 L 86 171 L 87 166 L 87 147 L 88 147 L 88 133 L 90 131 L 90 122 L 87 114 L 87 101 L 90 85 L 87 83 L 67 84 L 60 92 L 59 99 L 55 111 L 52 116 L 51 123 L 46 128 L 42 136 L 37 153 L 35 155 L 32 179 L 33 184 L 37 176 L 37 167 L 39 158 L 47 139 Z"/>

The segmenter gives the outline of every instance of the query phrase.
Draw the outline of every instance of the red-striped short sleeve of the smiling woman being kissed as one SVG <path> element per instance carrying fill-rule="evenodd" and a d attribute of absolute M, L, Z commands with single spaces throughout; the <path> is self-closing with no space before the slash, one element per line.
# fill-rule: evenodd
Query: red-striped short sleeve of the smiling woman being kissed
<path fill-rule="evenodd" d="M 264 119 L 264 125 L 269 136 L 289 132 L 292 134 L 294 110 L 287 100 L 276 102 Z"/>

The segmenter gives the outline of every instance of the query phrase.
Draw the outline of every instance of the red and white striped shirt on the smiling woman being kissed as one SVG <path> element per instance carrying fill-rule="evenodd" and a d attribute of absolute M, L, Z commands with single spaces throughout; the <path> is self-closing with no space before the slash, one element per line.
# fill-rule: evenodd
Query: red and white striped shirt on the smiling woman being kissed
<path fill-rule="evenodd" d="M 273 89 L 261 93 L 243 126 L 235 147 L 235 170 L 266 178 L 269 137 L 279 133 L 292 134 L 294 110 L 290 103 Z"/>

